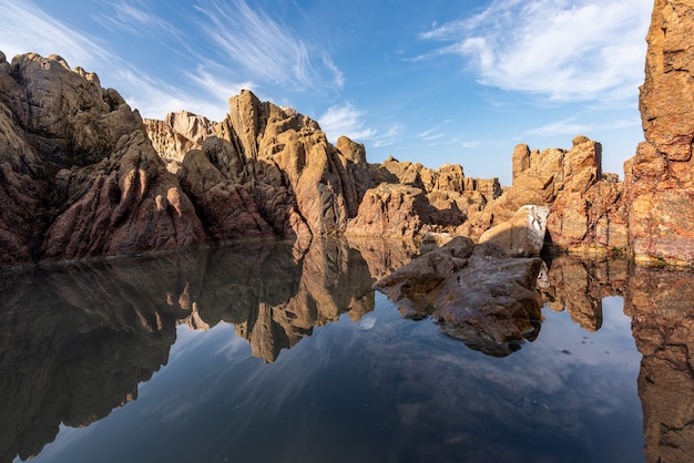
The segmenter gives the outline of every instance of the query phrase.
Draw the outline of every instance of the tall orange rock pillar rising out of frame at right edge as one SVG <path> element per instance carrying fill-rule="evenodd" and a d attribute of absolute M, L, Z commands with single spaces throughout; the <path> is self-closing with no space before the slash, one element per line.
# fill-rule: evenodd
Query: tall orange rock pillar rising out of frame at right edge
<path fill-rule="evenodd" d="M 624 163 L 634 256 L 694 261 L 694 59 L 691 2 L 656 0 L 639 107 L 645 142 Z"/>

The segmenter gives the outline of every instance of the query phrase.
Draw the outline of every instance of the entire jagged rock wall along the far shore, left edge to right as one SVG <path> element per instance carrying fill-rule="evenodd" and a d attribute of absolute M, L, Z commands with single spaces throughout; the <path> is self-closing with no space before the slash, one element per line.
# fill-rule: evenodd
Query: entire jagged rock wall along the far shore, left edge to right
<path fill-rule="evenodd" d="M 272 236 L 473 240 L 522 206 L 547 207 L 547 240 L 640 261 L 694 261 L 690 2 L 655 1 L 640 107 L 645 142 L 624 182 L 600 143 L 518 145 L 513 184 L 328 143 L 317 122 L 242 91 L 221 122 L 185 111 L 142 121 L 60 56 L 0 53 L 0 266 Z"/>

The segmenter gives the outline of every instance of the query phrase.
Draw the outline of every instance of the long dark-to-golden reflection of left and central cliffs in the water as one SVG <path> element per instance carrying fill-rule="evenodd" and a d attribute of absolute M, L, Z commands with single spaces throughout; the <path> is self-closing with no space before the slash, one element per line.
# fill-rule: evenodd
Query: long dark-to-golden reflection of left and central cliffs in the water
<path fill-rule="evenodd" d="M 62 266 L 0 280 L 0 461 L 27 459 L 61 422 L 86 425 L 133 400 L 169 359 L 176 322 L 235 323 L 273 361 L 348 313 L 374 309 L 372 278 L 345 241 L 251 243 Z"/>

